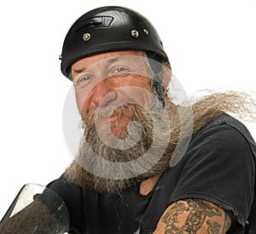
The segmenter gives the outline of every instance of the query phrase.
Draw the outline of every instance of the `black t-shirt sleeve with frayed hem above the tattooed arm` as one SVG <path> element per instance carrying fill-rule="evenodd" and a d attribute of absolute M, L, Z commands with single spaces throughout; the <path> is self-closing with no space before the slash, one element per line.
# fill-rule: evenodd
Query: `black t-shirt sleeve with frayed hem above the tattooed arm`
<path fill-rule="evenodd" d="M 223 124 L 196 134 L 170 203 L 200 198 L 230 210 L 244 225 L 254 197 L 255 163 L 247 139 Z"/>

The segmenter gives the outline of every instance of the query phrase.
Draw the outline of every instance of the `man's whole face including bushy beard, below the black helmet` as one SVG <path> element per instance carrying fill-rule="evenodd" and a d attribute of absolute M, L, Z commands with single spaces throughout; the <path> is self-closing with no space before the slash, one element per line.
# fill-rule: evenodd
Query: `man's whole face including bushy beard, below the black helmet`
<path fill-rule="evenodd" d="M 84 136 L 68 178 L 112 193 L 135 185 L 142 174 L 154 176 L 166 168 L 168 163 L 154 164 L 168 145 L 169 117 L 152 92 L 152 69 L 142 52 L 78 60 L 72 77 Z"/>

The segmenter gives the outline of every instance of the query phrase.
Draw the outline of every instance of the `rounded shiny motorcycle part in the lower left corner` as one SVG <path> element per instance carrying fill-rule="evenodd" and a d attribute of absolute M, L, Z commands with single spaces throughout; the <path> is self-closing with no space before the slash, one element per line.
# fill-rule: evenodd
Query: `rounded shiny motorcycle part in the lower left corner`
<path fill-rule="evenodd" d="M 60 233 L 67 230 L 68 211 L 61 197 L 49 189 L 33 195 L 39 189 L 42 186 L 25 185 L 21 189 L 1 222 L 1 233 Z"/>

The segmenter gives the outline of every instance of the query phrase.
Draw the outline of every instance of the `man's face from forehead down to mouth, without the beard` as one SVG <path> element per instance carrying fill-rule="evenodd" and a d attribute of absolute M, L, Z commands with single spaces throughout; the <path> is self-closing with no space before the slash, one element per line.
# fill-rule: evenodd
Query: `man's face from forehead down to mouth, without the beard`
<path fill-rule="evenodd" d="M 114 114 L 118 106 L 137 104 L 147 108 L 152 101 L 151 70 L 139 51 L 110 52 L 78 60 L 72 66 L 72 77 L 81 116 L 97 110 L 97 123 L 110 125 L 115 137 L 129 123 L 128 112 Z"/>

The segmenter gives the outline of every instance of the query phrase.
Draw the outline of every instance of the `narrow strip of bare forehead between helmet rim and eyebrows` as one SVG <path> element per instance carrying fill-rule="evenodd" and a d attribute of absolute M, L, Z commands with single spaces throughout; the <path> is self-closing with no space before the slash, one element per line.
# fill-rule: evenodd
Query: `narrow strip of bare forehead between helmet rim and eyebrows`
<path fill-rule="evenodd" d="M 96 54 L 92 55 L 86 58 L 83 58 L 81 60 L 78 60 L 73 63 L 71 69 L 73 70 L 81 70 L 86 67 L 92 66 L 95 63 L 98 63 L 102 60 L 108 60 L 111 58 L 119 57 L 119 56 L 145 56 L 145 54 L 142 51 L 137 50 L 124 50 L 124 51 L 113 51 L 103 54 Z"/>

